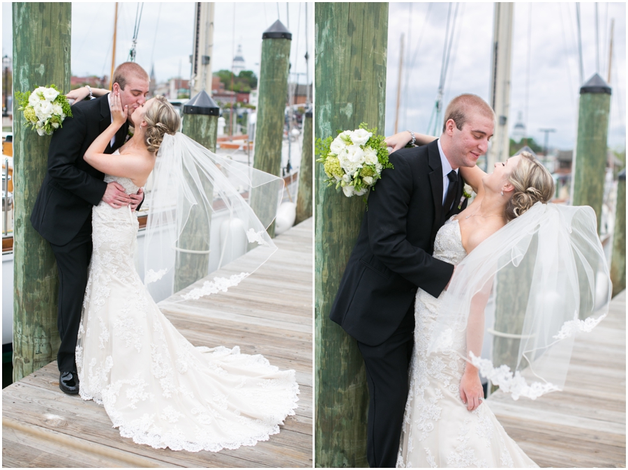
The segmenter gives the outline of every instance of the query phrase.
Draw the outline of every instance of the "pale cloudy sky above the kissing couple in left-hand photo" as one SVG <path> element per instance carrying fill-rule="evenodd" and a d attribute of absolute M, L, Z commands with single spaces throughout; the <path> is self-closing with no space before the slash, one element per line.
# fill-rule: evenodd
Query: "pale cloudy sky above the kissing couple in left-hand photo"
<path fill-rule="evenodd" d="M 118 10 L 117 63 L 126 61 L 133 39 L 137 2 L 120 2 Z M 136 61 L 147 71 L 154 63 L 158 81 L 190 77 L 194 3 L 144 3 L 137 36 Z M 262 33 L 281 20 L 292 33 L 292 72 L 306 82 L 306 5 L 308 52 L 313 57 L 312 3 L 216 3 L 214 29 L 214 72 L 231 69 L 234 48 L 242 45 L 246 68 L 259 73 Z M 235 21 L 234 21 L 235 18 Z M 114 3 L 72 3 L 71 60 L 73 75 L 110 75 L 113 43 Z M 10 3 L 2 3 L 2 55 L 13 54 Z M 309 61 L 310 80 L 313 59 Z M 294 75 L 294 80 L 297 75 Z"/>

